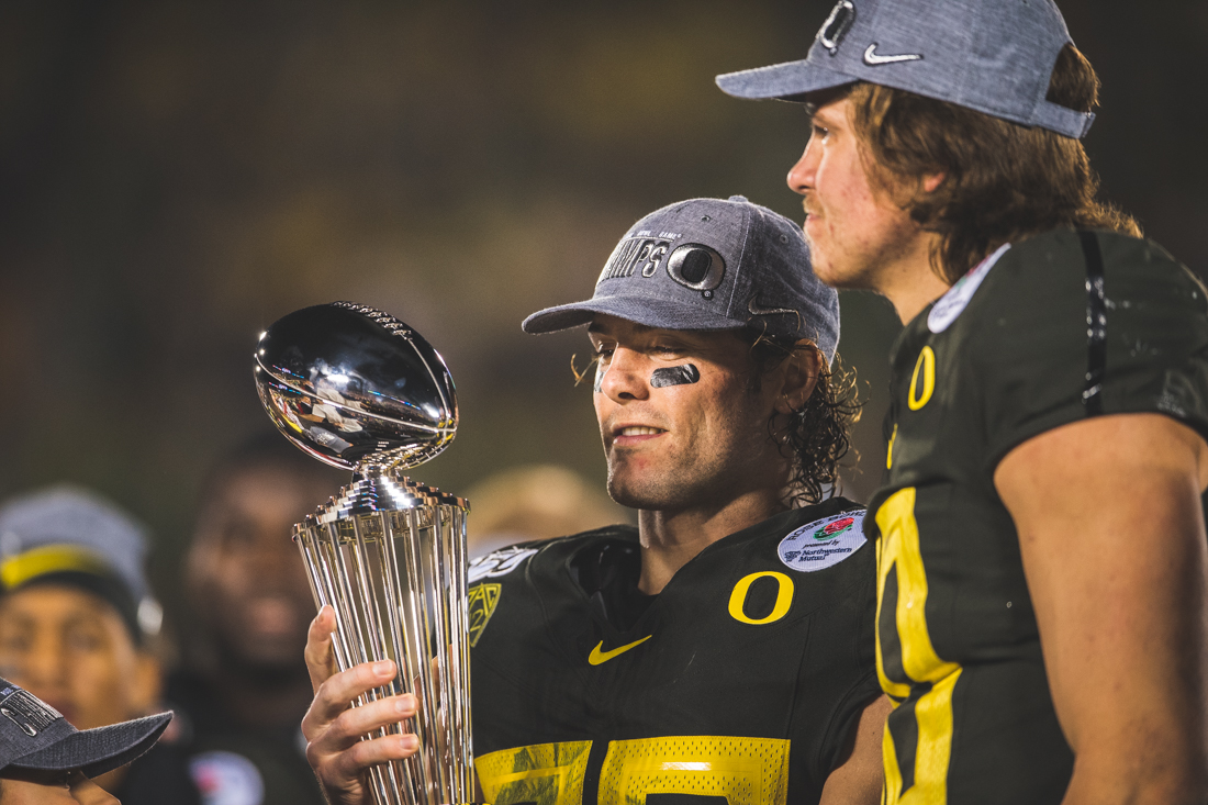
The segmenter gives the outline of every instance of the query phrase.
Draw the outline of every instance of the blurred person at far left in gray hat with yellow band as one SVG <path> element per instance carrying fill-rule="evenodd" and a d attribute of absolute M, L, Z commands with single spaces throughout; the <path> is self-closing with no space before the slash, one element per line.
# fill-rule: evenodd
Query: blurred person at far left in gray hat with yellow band
<path fill-rule="evenodd" d="M 157 708 L 161 665 L 150 642 L 161 613 L 143 574 L 139 523 L 94 493 L 51 487 L 0 506 L 0 674 L 86 730 Z M 95 782 L 126 805 L 201 801 L 170 743 Z"/>

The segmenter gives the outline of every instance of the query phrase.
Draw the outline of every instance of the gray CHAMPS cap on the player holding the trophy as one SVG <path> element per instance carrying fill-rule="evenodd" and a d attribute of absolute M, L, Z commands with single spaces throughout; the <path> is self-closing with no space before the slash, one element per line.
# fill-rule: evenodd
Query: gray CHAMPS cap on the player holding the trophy
<path fill-rule="evenodd" d="M 809 338 L 830 363 L 838 295 L 814 277 L 801 227 L 742 196 L 655 210 L 614 249 L 585 302 L 524 319 L 525 332 L 588 324 L 596 313 L 668 330 L 762 329 Z"/>

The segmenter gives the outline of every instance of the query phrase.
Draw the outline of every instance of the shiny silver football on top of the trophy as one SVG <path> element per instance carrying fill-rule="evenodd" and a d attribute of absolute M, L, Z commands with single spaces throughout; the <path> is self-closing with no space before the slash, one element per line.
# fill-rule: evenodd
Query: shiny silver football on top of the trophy
<path fill-rule="evenodd" d="M 256 346 L 256 389 L 295 445 L 333 467 L 420 464 L 457 433 L 445 360 L 388 313 L 316 305 L 273 323 Z"/>

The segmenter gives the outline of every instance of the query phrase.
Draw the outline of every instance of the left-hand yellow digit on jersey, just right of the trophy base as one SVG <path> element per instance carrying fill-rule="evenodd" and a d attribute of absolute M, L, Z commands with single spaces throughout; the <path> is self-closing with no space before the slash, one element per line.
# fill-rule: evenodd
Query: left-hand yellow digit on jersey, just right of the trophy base
<path fill-rule="evenodd" d="M 591 741 L 539 743 L 476 758 L 482 792 L 493 805 L 581 805 Z"/>

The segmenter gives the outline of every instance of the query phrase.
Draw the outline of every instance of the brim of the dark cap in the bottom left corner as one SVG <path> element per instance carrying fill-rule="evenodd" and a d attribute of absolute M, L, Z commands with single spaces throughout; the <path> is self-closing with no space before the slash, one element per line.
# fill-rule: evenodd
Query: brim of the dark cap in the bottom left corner
<path fill-rule="evenodd" d="M 172 713 L 159 713 L 109 726 L 72 732 L 60 741 L 22 755 L 11 766 L 65 771 L 80 769 L 88 777 L 103 775 L 135 759 L 159 740 Z"/>

